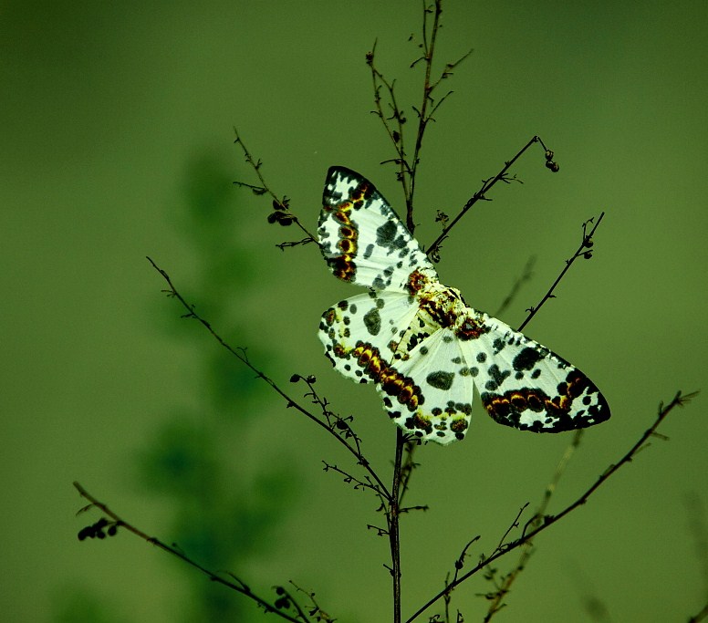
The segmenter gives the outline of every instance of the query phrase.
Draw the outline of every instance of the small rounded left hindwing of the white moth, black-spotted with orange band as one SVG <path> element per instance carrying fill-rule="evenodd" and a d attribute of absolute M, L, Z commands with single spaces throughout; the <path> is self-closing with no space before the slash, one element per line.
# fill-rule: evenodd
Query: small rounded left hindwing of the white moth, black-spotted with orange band
<path fill-rule="evenodd" d="M 345 377 L 377 382 L 380 368 L 397 356 L 401 336 L 417 311 L 418 304 L 409 295 L 370 290 L 329 307 L 319 323 L 319 339 Z"/>

